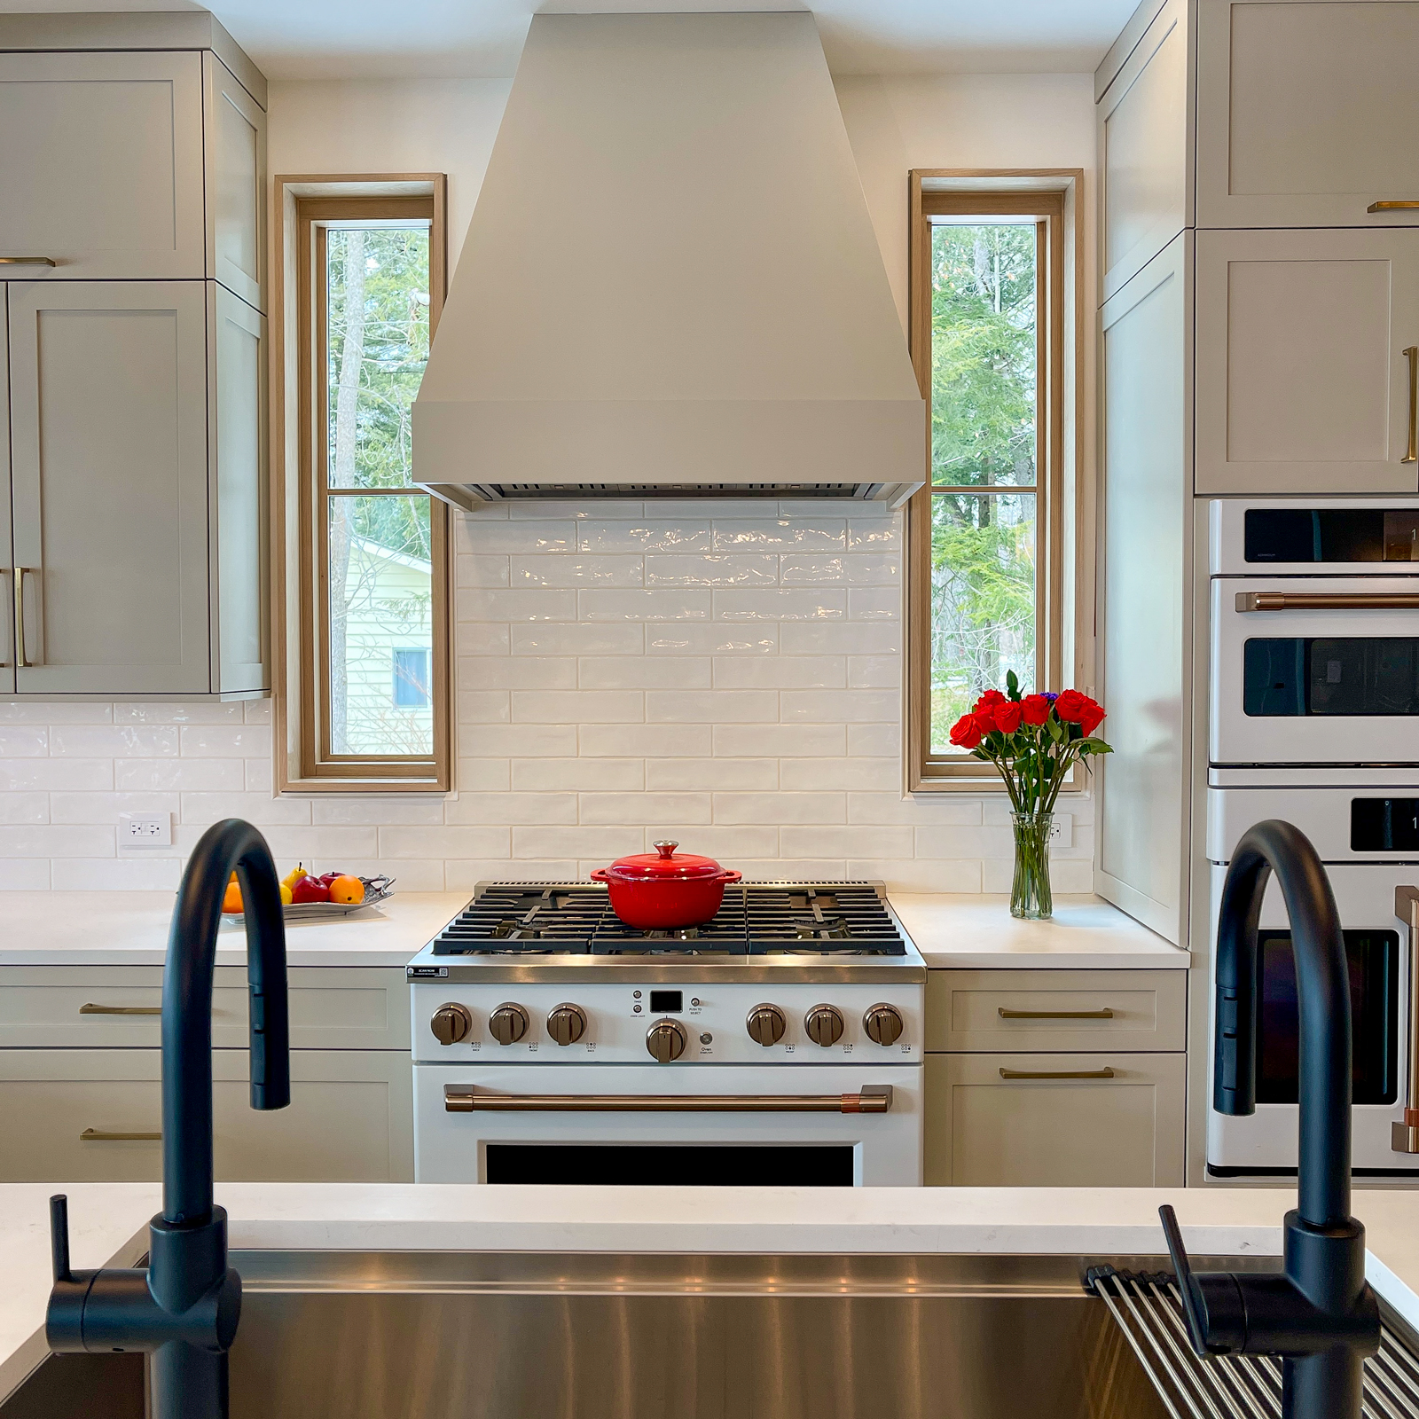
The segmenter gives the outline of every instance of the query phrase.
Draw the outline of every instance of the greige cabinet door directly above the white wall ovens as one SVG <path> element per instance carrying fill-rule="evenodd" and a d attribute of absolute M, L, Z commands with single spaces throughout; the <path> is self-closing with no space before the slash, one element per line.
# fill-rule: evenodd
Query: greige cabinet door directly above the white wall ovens
<path fill-rule="evenodd" d="M 1413 492 L 1412 346 L 1419 230 L 1199 231 L 1198 494 Z"/>

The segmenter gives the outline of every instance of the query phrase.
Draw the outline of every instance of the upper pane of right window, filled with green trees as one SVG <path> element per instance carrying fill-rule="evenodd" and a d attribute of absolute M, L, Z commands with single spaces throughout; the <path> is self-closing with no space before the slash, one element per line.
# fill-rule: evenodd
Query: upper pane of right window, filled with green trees
<path fill-rule="evenodd" d="M 931 477 L 1034 484 L 1034 221 L 931 228 Z"/>

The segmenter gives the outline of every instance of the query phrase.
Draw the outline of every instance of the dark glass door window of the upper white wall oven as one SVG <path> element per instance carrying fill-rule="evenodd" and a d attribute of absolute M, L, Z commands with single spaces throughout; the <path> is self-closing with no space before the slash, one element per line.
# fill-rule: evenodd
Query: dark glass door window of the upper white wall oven
<path fill-rule="evenodd" d="M 1419 636 L 1249 640 L 1242 708 L 1263 718 L 1419 714 Z"/>

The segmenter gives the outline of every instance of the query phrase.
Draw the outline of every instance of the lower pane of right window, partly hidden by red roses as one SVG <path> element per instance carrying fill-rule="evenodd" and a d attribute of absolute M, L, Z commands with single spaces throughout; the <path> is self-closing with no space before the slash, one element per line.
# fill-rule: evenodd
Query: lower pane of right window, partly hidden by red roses
<path fill-rule="evenodd" d="M 1007 670 L 1034 688 L 1034 494 L 932 494 L 932 753 Z"/>

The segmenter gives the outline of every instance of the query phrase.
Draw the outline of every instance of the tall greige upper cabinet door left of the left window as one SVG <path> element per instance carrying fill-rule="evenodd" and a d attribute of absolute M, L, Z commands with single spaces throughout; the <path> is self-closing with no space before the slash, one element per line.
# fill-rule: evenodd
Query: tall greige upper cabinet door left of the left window
<path fill-rule="evenodd" d="M 10 287 L 20 694 L 206 694 L 200 281 Z"/>

